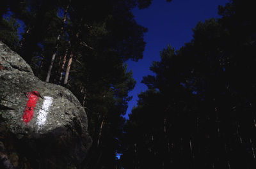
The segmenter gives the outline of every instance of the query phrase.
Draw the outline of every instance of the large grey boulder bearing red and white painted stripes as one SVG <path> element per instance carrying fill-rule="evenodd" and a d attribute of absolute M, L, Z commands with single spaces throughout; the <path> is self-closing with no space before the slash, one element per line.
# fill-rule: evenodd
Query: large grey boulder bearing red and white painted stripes
<path fill-rule="evenodd" d="M 35 107 L 28 105 L 33 91 L 39 93 L 33 94 Z M 33 116 L 26 121 L 24 114 Z M 0 142 L 8 158 L 19 159 L 13 166 L 79 167 L 92 143 L 87 124 L 84 108 L 68 89 L 39 80 L 0 41 Z"/>

